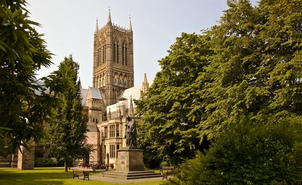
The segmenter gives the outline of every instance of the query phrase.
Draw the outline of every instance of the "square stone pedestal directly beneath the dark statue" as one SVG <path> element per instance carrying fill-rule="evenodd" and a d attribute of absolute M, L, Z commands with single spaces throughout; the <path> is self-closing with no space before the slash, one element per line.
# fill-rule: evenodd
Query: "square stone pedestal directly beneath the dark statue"
<path fill-rule="evenodd" d="M 122 147 L 117 150 L 117 171 L 144 171 L 142 151 L 137 147 Z"/>

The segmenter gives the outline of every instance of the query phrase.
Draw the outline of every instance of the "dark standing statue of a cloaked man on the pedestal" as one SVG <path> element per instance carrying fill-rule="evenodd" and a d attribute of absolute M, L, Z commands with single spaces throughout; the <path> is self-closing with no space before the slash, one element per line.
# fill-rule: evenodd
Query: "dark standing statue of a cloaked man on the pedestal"
<path fill-rule="evenodd" d="M 136 147 L 136 138 L 137 138 L 137 131 L 135 121 L 127 116 L 126 122 L 126 131 L 125 131 L 125 139 L 126 139 L 126 146 L 129 147 Z"/>

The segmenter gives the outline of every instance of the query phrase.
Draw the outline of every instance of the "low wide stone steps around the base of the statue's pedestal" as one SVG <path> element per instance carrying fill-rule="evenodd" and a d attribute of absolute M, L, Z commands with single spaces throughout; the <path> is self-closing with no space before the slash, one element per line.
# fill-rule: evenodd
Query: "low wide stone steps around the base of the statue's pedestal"
<path fill-rule="evenodd" d="M 161 173 L 156 173 L 154 171 L 106 171 L 98 175 L 102 177 L 110 177 L 110 178 L 118 178 L 118 179 L 162 177 Z"/>

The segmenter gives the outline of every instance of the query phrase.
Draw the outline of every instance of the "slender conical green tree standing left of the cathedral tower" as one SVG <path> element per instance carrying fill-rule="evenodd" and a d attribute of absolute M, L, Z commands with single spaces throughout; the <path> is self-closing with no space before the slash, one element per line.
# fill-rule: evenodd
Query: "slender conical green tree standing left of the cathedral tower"
<path fill-rule="evenodd" d="M 77 81 L 80 66 L 69 55 L 60 62 L 59 69 L 66 67 L 74 71 L 73 88 L 57 95 L 61 99 L 61 104 L 48 122 L 47 136 L 42 143 L 53 156 L 64 160 L 64 169 L 67 172 L 67 161 L 84 158 L 93 150 L 87 144 L 88 119 L 82 115 L 80 81 Z"/>

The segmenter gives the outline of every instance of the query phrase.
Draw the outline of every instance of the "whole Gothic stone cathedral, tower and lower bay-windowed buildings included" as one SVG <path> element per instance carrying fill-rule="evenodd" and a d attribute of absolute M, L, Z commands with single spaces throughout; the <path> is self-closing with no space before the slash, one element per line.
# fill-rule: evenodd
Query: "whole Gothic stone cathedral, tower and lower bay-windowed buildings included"
<path fill-rule="evenodd" d="M 144 74 L 142 83 L 134 86 L 133 32 L 111 22 L 110 10 L 105 26 L 94 33 L 93 86 L 81 88 L 83 114 L 88 115 L 88 143 L 96 149 L 77 163 L 116 164 L 117 150 L 125 144 L 126 116 L 134 117 L 139 100 L 149 83 Z"/>

